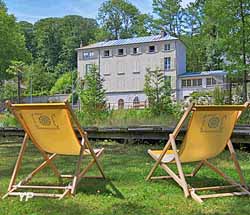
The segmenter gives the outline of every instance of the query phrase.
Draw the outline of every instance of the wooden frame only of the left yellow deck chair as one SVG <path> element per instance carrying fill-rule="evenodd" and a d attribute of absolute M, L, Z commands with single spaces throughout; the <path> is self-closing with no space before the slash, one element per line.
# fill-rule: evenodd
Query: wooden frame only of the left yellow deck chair
<path fill-rule="evenodd" d="M 80 153 L 79 153 L 79 157 L 78 157 L 78 161 L 76 163 L 76 169 L 75 169 L 75 173 L 73 175 L 62 175 L 58 168 L 55 166 L 55 164 L 53 163 L 53 160 L 55 159 L 55 157 L 57 156 L 57 154 L 48 154 L 46 153 L 39 145 L 38 143 L 35 141 L 34 138 L 32 138 L 32 133 L 31 131 L 28 129 L 27 126 L 24 126 L 24 130 L 25 130 L 25 136 L 22 142 L 22 146 L 15 164 L 15 168 L 13 170 L 13 174 L 9 183 L 9 187 L 8 187 L 8 192 L 3 196 L 3 199 L 6 198 L 7 196 L 20 196 L 20 198 L 22 199 L 23 197 L 26 197 L 26 200 L 28 200 L 31 197 L 52 197 L 52 198 L 59 198 L 62 199 L 63 197 L 65 197 L 66 195 L 75 195 L 76 193 L 76 188 L 77 185 L 79 184 L 80 180 L 82 178 L 100 178 L 100 179 L 105 179 L 105 175 L 103 172 L 103 169 L 98 161 L 98 159 L 101 157 L 101 155 L 103 154 L 104 148 L 100 149 L 100 151 L 98 151 L 98 153 L 95 153 L 93 148 L 91 147 L 88 137 L 87 137 L 87 133 L 81 128 L 73 110 L 71 109 L 70 105 L 68 104 L 68 102 L 65 102 L 66 107 L 70 113 L 70 115 L 72 116 L 72 122 L 75 123 L 76 128 L 81 136 L 81 149 L 80 149 Z M 12 111 L 12 113 L 16 116 L 16 118 L 18 119 L 16 112 L 14 110 L 14 108 L 12 108 L 11 103 L 7 102 L 7 106 L 8 108 Z M 24 180 L 20 181 L 18 184 L 16 184 L 16 178 L 18 175 L 18 172 L 21 168 L 21 164 L 22 164 L 22 159 L 23 159 L 23 155 L 25 153 L 25 150 L 27 148 L 27 144 L 28 144 L 28 140 L 31 140 L 33 142 L 33 144 L 36 146 L 36 148 L 39 150 L 39 152 L 42 154 L 43 158 L 44 158 L 44 162 L 41 163 L 37 168 L 35 168 Z M 83 162 L 83 157 L 84 157 L 84 151 L 88 152 L 91 156 L 92 156 L 92 160 L 87 164 L 87 166 L 81 170 L 81 165 Z M 89 171 L 89 169 L 96 164 L 98 167 L 98 170 L 100 171 L 101 175 L 100 176 L 85 176 L 86 173 Z M 31 181 L 31 179 L 38 173 L 40 172 L 42 169 L 44 169 L 46 166 L 49 166 L 51 168 L 51 170 L 54 172 L 55 176 L 58 177 L 59 182 L 62 181 L 62 178 L 68 178 L 71 179 L 71 183 L 68 186 L 34 186 L 34 185 L 27 185 L 28 182 Z M 37 190 L 43 190 L 43 189 L 48 189 L 48 190 L 60 190 L 63 191 L 63 193 L 61 194 L 53 194 L 53 193 L 34 193 L 34 192 L 21 192 L 18 190 L 22 189 L 37 189 Z"/>

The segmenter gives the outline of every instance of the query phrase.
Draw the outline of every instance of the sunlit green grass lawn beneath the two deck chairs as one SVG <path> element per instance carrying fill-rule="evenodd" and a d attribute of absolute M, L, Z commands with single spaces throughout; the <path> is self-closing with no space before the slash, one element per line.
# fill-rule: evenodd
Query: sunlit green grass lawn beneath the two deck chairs
<path fill-rule="evenodd" d="M 1 140 L 0 142 L 6 142 Z M 249 214 L 249 197 L 225 197 L 208 199 L 200 205 L 191 198 L 186 199 L 180 187 L 170 180 L 146 182 L 145 177 L 153 165 L 153 160 L 147 155 L 148 148 L 162 146 L 122 145 L 115 142 L 99 142 L 97 147 L 105 147 L 101 163 L 108 180 L 82 180 L 75 197 L 63 200 L 35 198 L 28 202 L 20 202 L 18 197 L 8 197 L 0 200 L 0 214 L 85 214 L 85 215 L 160 215 L 160 214 Z M 20 145 L 8 143 L 0 145 L 0 195 L 7 191 L 10 175 L 14 167 Z M 250 154 L 238 152 L 248 184 L 250 184 Z M 42 161 L 36 149 L 29 144 L 23 169 L 20 176 L 25 177 Z M 73 170 L 76 158 L 60 157 L 55 163 L 64 173 Z M 233 177 L 232 162 L 226 151 L 212 161 Z M 185 166 L 186 172 L 193 165 Z M 97 173 L 93 168 L 90 174 Z M 158 169 L 157 174 L 163 173 Z M 20 179 L 20 177 L 19 177 Z M 57 183 L 49 168 L 44 169 L 34 182 L 47 184 Z M 191 179 L 196 186 L 223 184 L 223 180 L 210 170 L 202 169 L 196 178 Z M 66 181 L 65 181 L 66 183 Z"/>

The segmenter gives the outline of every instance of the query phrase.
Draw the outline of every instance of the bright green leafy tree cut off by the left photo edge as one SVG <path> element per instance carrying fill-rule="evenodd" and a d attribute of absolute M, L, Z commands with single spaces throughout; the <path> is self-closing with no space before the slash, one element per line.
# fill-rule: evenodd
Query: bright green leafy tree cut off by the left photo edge
<path fill-rule="evenodd" d="M 2 1 L 1 1 L 2 2 Z M 4 9 L 1 9 L 4 8 Z M 0 7 L 0 87 L 8 79 L 6 69 L 11 61 L 29 62 L 31 55 L 25 47 L 25 39 L 20 32 L 13 15 L 1 3 Z"/>

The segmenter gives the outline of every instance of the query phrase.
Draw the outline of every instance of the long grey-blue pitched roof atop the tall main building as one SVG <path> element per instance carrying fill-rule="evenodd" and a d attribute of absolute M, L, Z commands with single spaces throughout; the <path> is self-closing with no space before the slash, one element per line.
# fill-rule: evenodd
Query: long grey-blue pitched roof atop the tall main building
<path fill-rule="evenodd" d="M 149 43 L 149 42 L 157 42 L 157 41 L 167 41 L 167 40 L 178 40 L 176 37 L 172 37 L 169 35 L 161 36 L 146 36 L 146 37 L 135 37 L 128 39 L 119 39 L 119 40 L 109 40 L 102 41 L 94 44 L 90 44 L 79 49 L 92 49 L 92 48 L 102 48 L 102 47 L 110 47 L 110 46 L 120 46 L 120 45 L 129 45 L 129 44 L 138 44 L 138 43 Z"/>

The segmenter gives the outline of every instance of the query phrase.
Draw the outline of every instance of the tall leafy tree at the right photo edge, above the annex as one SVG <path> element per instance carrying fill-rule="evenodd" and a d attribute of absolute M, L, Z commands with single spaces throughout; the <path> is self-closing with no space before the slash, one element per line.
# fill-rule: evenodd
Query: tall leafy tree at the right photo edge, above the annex
<path fill-rule="evenodd" d="M 250 69 L 250 2 L 248 0 L 210 0 L 205 4 L 206 28 L 216 35 L 216 46 L 229 68 L 241 74 L 243 98 L 247 99 L 247 73 Z M 224 60 L 225 61 L 225 60 Z"/>

